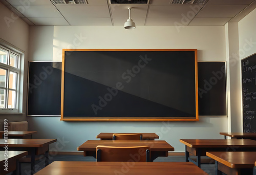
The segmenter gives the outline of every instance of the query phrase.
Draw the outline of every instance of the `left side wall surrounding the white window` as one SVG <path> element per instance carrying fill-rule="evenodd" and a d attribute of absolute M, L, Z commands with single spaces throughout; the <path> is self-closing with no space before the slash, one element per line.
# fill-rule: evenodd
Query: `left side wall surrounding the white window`
<path fill-rule="evenodd" d="M 25 57 L 22 59 L 22 67 L 20 68 L 23 75 L 20 77 L 21 86 L 20 92 L 23 92 L 22 98 L 19 101 L 20 112 L 19 115 L 0 115 L 0 122 L 4 119 L 12 121 L 26 121 L 26 101 L 27 101 L 27 60 L 28 60 L 28 47 L 29 47 L 29 26 L 12 11 L 0 3 L 0 38 L 3 42 L 9 43 L 13 47 L 22 50 Z M 23 83 L 24 82 L 24 83 Z M 24 104 L 24 105 L 23 105 Z M 2 130 L 3 126 L 0 126 Z"/>

